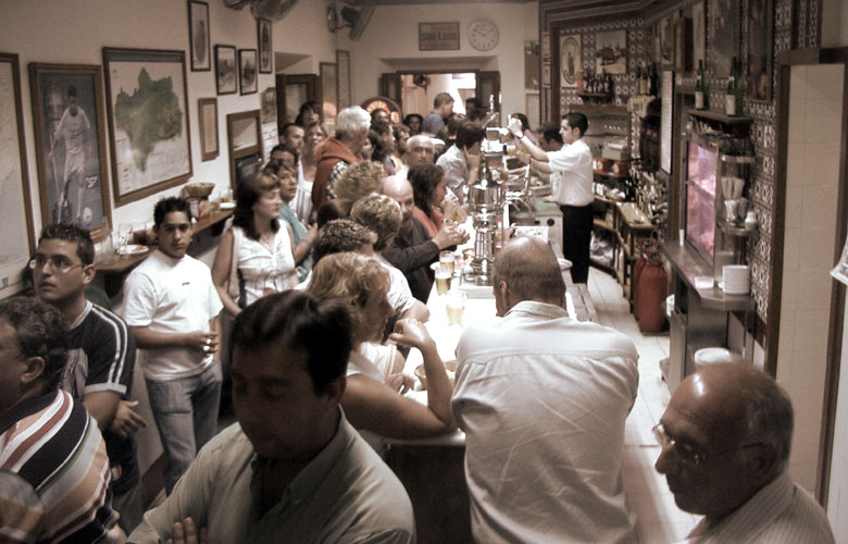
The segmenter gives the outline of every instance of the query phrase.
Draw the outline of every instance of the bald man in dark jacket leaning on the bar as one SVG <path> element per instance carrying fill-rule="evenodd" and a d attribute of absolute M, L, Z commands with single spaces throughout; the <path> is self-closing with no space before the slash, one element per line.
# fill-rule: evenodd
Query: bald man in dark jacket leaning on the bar
<path fill-rule="evenodd" d="M 412 295 L 426 304 L 433 287 L 433 271 L 429 265 L 438 260 L 439 251 L 464 244 L 469 235 L 451 225 L 442 224 L 436 236 L 431 238 L 426 227 L 412 217 L 415 201 L 412 185 L 406 178 L 397 175 L 384 178 L 383 194 L 395 199 L 403 212 L 400 231 L 391 245 L 383 250 L 383 257 L 403 272 Z"/>

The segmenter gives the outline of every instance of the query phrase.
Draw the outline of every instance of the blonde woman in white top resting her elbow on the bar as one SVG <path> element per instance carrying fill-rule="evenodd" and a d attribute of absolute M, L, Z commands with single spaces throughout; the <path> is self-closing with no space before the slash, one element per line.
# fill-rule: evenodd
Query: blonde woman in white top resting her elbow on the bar
<path fill-rule="evenodd" d="M 341 406 L 360 431 L 389 438 L 424 438 L 454 429 L 450 411 L 450 382 L 436 343 L 417 320 L 398 321 L 389 341 L 417 348 L 427 374 L 427 404 L 401 395 L 412 379 L 398 374 L 403 358 L 392 347 L 376 344 L 391 305 L 386 295 L 389 275 L 374 259 L 341 252 L 323 257 L 312 270 L 307 290 L 347 305 L 353 322 L 353 350 Z"/>

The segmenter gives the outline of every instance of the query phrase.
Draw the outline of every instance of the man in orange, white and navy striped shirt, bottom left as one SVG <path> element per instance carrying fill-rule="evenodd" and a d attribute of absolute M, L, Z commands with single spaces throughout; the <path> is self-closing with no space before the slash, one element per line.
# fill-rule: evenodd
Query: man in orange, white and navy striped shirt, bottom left
<path fill-rule="evenodd" d="M 0 302 L 0 541 L 120 542 L 97 422 L 59 390 L 62 314 L 34 298 Z"/>

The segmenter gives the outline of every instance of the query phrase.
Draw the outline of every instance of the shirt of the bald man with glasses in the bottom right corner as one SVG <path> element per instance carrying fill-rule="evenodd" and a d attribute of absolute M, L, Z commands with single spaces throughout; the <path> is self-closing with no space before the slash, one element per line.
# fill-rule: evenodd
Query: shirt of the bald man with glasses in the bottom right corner
<path fill-rule="evenodd" d="M 796 544 L 834 542 L 824 509 L 784 472 L 718 526 L 703 532 L 701 519 L 681 543 L 723 544 L 746 542 Z M 697 536 L 691 536 L 698 534 Z"/>

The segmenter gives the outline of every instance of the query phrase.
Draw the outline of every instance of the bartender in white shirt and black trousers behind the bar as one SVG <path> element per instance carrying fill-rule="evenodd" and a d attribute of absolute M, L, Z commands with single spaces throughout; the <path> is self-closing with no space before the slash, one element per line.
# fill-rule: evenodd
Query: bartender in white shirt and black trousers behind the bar
<path fill-rule="evenodd" d="M 586 283 L 589 277 L 589 244 L 591 243 L 591 151 L 583 141 L 589 122 L 583 113 L 562 116 L 560 134 L 564 145 L 559 151 L 544 151 L 524 137 L 521 122 L 510 121 L 510 132 L 519 138 L 529 157 L 519 158 L 540 172 L 557 174 L 559 183 L 553 195 L 562 210 L 562 255 L 572 261 L 574 283 Z"/>

